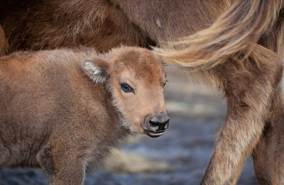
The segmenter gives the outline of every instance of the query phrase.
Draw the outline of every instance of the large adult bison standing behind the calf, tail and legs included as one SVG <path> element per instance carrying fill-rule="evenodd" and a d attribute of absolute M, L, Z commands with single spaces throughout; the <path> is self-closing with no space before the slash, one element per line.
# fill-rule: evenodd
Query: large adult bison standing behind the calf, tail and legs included
<path fill-rule="evenodd" d="M 236 184 L 250 153 L 260 184 L 283 184 L 283 5 L 283 0 L 2 2 L 1 48 L 164 46 L 155 50 L 165 61 L 184 66 L 227 98 L 227 118 L 202 184 Z"/>

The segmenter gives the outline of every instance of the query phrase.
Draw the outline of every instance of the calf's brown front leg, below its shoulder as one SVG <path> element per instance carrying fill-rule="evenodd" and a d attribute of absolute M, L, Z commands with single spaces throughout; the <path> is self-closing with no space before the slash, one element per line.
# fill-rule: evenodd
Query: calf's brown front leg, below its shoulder
<path fill-rule="evenodd" d="M 50 142 L 37 155 L 51 185 L 82 185 L 85 168 L 77 150 L 60 141 Z"/>

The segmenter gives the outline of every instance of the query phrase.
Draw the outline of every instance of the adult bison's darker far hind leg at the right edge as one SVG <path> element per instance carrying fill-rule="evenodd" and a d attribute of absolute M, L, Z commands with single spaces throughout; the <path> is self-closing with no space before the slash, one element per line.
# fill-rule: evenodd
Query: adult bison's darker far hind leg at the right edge
<path fill-rule="evenodd" d="M 254 169 L 260 185 L 284 183 L 284 95 L 275 93 L 270 118 L 253 151 Z"/>

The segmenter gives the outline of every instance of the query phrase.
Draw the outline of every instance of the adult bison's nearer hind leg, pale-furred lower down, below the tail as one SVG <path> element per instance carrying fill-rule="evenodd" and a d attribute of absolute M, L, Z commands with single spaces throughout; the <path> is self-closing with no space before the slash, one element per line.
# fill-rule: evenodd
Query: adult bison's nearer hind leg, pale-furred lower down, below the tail
<path fill-rule="evenodd" d="M 249 57 L 211 70 L 224 90 L 228 111 L 201 184 L 236 184 L 262 135 L 282 69 L 274 52 L 256 46 Z"/>

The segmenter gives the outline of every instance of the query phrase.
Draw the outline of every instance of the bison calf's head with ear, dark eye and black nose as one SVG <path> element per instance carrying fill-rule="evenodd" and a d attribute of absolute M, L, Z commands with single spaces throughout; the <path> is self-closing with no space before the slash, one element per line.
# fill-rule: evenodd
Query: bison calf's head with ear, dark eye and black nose
<path fill-rule="evenodd" d="M 123 126 L 132 133 L 159 137 L 168 128 L 163 95 L 166 73 L 161 59 L 152 51 L 115 48 L 85 60 L 83 70 L 94 83 L 105 85 Z"/>

